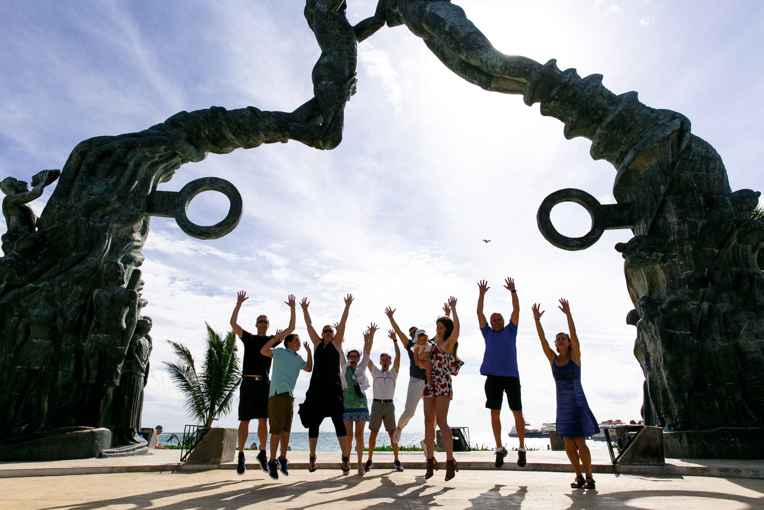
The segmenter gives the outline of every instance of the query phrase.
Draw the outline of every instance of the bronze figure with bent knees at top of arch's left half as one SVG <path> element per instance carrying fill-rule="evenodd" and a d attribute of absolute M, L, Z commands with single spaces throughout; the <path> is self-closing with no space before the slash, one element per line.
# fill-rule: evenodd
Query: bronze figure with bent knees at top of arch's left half
<path fill-rule="evenodd" d="M 358 43 L 384 27 L 389 10 L 387 0 L 379 0 L 374 16 L 353 26 L 347 8 L 345 0 L 307 0 L 305 5 L 305 18 L 321 47 L 312 72 L 315 97 L 285 119 L 292 138 L 318 149 L 333 149 L 342 141 L 345 103 L 358 82 Z M 310 123 L 319 117 L 320 126 Z"/>

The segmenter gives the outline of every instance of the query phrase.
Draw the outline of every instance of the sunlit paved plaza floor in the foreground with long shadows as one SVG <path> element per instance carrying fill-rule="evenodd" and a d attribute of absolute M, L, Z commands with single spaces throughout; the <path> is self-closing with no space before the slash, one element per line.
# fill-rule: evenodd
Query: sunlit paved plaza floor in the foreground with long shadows
<path fill-rule="evenodd" d="M 351 472 L 352 473 L 352 472 Z M 286 510 L 326 508 L 642 508 L 644 510 L 743 510 L 764 508 L 764 479 L 696 476 L 597 475 L 597 489 L 571 489 L 568 473 L 470 470 L 443 481 L 420 469 L 374 469 L 342 476 L 339 469 L 295 470 L 272 480 L 249 469 L 163 473 L 114 473 L 0 479 L 4 510 Z"/>

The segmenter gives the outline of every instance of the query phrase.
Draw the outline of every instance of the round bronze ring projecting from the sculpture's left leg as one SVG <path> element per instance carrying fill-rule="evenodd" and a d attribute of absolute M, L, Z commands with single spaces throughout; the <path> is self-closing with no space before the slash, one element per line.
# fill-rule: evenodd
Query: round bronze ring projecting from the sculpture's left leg
<path fill-rule="evenodd" d="M 219 191 L 228 197 L 231 207 L 222 222 L 212 226 L 191 223 L 188 217 L 189 203 L 202 191 Z M 244 213 L 244 203 L 236 187 L 219 177 L 202 177 L 192 180 L 181 189 L 175 200 L 175 221 L 183 232 L 196 239 L 218 239 L 235 229 Z"/>

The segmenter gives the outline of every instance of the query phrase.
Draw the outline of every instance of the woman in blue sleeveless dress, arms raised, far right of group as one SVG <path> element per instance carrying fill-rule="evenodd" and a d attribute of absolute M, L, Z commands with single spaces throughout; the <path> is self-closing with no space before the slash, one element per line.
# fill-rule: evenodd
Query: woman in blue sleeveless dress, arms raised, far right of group
<path fill-rule="evenodd" d="M 558 354 L 549 347 L 549 342 L 544 336 L 541 326 L 543 311 L 539 311 L 539 304 L 533 305 L 533 319 L 536 320 L 536 331 L 541 339 L 546 358 L 552 365 L 552 375 L 555 376 L 557 385 L 557 435 L 565 440 L 565 453 L 571 460 L 571 466 L 575 471 L 575 481 L 571 483 L 573 489 L 594 489 L 594 479 L 591 477 L 591 453 L 586 446 L 586 438 L 597 434 L 600 427 L 597 420 L 589 409 L 589 404 L 581 388 L 581 347 L 578 345 L 578 336 L 575 334 L 575 324 L 571 316 L 570 305 L 565 299 L 560 300 L 559 309 L 568 317 L 568 333 L 555 335 L 555 347 Z M 586 479 L 581 476 L 581 464 L 584 464 Z"/>

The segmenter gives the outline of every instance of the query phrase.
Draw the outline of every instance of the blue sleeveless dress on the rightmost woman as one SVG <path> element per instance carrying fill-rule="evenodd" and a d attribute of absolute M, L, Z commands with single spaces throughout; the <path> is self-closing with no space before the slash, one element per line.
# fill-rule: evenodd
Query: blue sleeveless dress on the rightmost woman
<path fill-rule="evenodd" d="M 552 362 L 552 375 L 557 385 L 557 435 L 559 437 L 589 437 L 597 434 L 600 427 L 581 388 L 581 367 L 568 359 L 558 366 Z"/>

